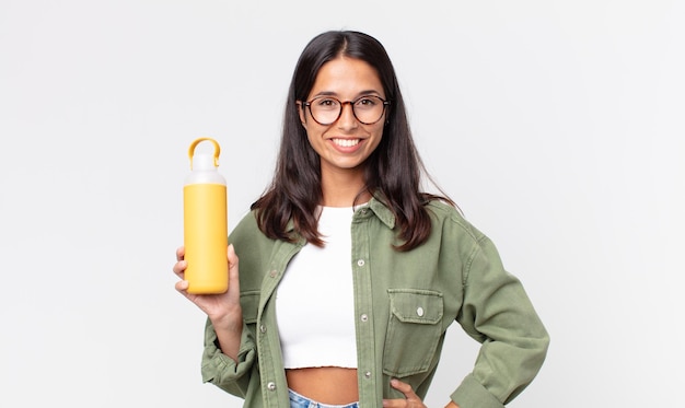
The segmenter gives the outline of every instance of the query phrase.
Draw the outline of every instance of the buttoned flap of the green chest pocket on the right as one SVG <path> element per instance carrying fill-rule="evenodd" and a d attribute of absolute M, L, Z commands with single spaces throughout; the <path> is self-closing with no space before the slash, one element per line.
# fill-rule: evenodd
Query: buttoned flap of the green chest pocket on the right
<path fill-rule="evenodd" d="M 434 325 L 442 318 L 442 293 L 418 289 L 388 289 L 391 312 L 399 322 Z"/>

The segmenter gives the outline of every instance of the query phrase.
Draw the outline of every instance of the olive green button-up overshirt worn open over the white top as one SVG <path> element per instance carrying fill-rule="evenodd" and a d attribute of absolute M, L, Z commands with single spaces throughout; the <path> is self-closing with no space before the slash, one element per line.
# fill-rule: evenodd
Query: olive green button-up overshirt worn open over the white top
<path fill-rule="evenodd" d="M 382 202 L 372 199 L 353 214 L 350 268 L 360 406 L 403 398 L 391 387 L 392 377 L 409 383 L 423 398 L 445 331 L 456 320 L 481 348 L 473 372 L 455 384 L 451 398 L 461 408 L 500 408 L 537 374 L 548 335 L 492 243 L 453 207 L 433 201 L 427 208 L 432 233 L 405 253 L 392 247 L 399 244 L 395 218 Z M 275 293 L 305 242 L 266 237 L 254 213 L 233 230 L 230 242 L 240 257 L 244 328 L 239 361 L 219 350 L 208 322 L 202 380 L 245 398 L 246 407 L 289 407 Z"/>

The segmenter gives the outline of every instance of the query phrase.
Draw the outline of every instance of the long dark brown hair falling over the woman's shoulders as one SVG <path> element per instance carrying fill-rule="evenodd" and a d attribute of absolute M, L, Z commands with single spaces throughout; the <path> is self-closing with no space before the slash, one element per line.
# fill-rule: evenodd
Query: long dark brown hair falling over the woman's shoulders
<path fill-rule="evenodd" d="M 365 189 L 395 214 L 402 241 L 396 249 L 413 249 L 430 235 L 430 214 L 425 205 L 431 199 L 453 206 L 454 202 L 444 194 L 436 196 L 419 190 L 421 175 L 429 179 L 430 176 L 411 138 L 395 69 L 383 45 L 363 33 L 326 32 L 314 37 L 302 51 L 290 83 L 274 179 L 251 208 L 256 210 L 259 229 L 267 236 L 293 242 L 300 234 L 314 245 L 324 245 L 316 218 L 316 207 L 323 197 L 320 158 L 300 123 L 297 102 L 306 100 L 324 63 L 339 56 L 360 59 L 373 67 L 391 102 L 383 138 L 364 163 Z M 293 230 L 289 229 L 291 221 Z"/>

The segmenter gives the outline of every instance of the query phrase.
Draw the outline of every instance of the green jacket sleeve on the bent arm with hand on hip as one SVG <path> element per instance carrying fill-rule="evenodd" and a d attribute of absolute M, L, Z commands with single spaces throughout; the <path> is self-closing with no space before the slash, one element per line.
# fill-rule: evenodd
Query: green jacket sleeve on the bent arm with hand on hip
<path fill-rule="evenodd" d="M 474 244 L 463 284 L 457 322 L 481 347 L 474 371 L 451 397 L 461 408 L 501 408 L 537 375 L 549 336 L 523 285 L 504 270 L 486 236 Z"/>

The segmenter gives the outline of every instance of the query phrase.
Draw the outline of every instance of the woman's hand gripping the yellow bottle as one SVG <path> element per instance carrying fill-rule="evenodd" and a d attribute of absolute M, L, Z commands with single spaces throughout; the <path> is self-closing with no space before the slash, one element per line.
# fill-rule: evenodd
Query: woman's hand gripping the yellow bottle
<path fill-rule="evenodd" d="M 188 264 L 184 259 L 184 256 L 185 247 L 182 246 L 176 249 L 176 264 L 174 264 L 173 267 L 174 273 L 181 278 L 181 280 L 175 284 L 176 290 L 205 312 L 216 328 L 218 328 L 217 326 L 223 326 L 224 328 L 230 329 L 239 323 L 240 327 L 242 327 L 237 267 L 239 259 L 235 255 L 235 250 L 233 249 L 233 245 L 229 245 L 227 254 L 229 263 L 229 290 L 225 293 L 188 293 L 188 281 L 184 279 L 185 270 Z"/>

